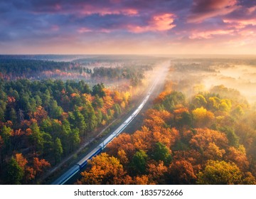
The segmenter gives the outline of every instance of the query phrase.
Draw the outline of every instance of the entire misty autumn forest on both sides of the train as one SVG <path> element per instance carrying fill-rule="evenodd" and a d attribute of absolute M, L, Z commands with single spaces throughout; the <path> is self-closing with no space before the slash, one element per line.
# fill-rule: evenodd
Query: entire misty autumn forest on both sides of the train
<path fill-rule="evenodd" d="M 166 60 L 139 126 L 75 184 L 256 184 L 255 60 L 128 55 L 0 56 L 0 184 L 54 181 L 137 107 Z"/>

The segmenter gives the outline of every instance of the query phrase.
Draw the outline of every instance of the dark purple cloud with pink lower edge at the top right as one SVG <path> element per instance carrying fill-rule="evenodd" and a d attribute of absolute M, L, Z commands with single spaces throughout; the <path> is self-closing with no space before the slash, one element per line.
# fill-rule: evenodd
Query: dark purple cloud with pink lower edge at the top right
<path fill-rule="evenodd" d="M 188 23 L 200 23 L 208 18 L 225 16 L 238 8 L 237 0 L 194 0 Z"/>

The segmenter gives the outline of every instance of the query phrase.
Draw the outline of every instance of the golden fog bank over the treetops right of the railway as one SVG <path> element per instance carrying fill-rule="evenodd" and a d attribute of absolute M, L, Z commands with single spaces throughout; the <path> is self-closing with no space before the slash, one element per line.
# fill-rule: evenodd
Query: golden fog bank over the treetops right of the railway
<path fill-rule="evenodd" d="M 176 87 L 186 90 L 188 95 L 225 85 L 238 90 L 248 102 L 256 102 L 256 65 L 247 58 L 178 59 L 172 61 L 171 68 L 174 70 L 171 79 L 177 83 Z"/>

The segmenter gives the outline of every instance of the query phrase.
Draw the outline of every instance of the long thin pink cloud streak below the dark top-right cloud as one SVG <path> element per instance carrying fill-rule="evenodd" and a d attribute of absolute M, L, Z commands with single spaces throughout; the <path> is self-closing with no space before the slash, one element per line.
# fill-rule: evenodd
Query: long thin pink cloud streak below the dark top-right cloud
<path fill-rule="evenodd" d="M 208 39 L 213 38 L 213 36 L 223 36 L 231 35 L 234 33 L 234 30 L 217 30 L 217 31 L 196 31 L 189 36 L 190 39 Z"/>

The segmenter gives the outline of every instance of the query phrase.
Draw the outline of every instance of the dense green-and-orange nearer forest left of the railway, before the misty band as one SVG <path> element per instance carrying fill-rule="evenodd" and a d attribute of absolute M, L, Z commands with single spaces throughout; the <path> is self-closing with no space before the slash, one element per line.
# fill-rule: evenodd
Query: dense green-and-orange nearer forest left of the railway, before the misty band
<path fill-rule="evenodd" d="M 0 88 L 0 166 L 8 183 L 33 182 L 35 158 L 55 165 L 91 131 L 117 118 L 131 99 L 129 89 L 97 84 L 91 90 L 83 81 L 0 80 Z"/>

